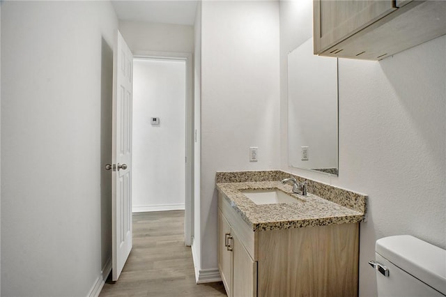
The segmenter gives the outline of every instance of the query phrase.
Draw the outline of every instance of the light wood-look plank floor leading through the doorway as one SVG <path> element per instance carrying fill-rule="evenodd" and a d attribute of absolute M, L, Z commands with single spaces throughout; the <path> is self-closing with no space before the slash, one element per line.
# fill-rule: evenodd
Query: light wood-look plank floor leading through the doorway
<path fill-rule="evenodd" d="M 222 282 L 195 284 L 184 211 L 133 214 L 133 248 L 116 283 L 100 296 L 226 296 Z"/>

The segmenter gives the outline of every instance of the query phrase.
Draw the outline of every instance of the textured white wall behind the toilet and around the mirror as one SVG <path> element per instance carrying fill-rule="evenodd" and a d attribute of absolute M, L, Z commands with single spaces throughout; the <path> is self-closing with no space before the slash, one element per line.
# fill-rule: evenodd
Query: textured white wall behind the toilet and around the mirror
<path fill-rule="evenodd" d="M 306 20 L 296 26 L 297 3 L 280 4 L 283 65 L 289 46 L 312 27 Z M 410 234 L 446 248 L 445 48 L 443 36 L 379 62 L 339 59 L 338 178 L 286 165 L 282 121 L 282 169 L 369 195 L 369 219 L 360 230 L 360 296 L 376 296 L 367 264 L 376 239 Z M 281 78 L 284 116 L 283 69 Z"/>

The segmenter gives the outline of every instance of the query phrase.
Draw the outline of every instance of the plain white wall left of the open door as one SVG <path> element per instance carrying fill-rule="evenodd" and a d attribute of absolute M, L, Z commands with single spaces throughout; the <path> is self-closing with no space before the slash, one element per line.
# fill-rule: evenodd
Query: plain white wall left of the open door
<path fill-rule="evenodd" d="M 118 21 L 106 1 L 1 5 L 1 295 L 86 296 L 109 244 L 102 40 L 112 48 Z"/>

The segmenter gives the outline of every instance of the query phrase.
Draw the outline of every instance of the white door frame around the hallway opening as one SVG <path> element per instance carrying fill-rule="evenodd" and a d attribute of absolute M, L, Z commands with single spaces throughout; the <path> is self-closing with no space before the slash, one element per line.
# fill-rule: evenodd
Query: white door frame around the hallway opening
<path fill-rule="evenodd" d="M 194 98 L 192 94 L 193 67 L 190 52 L 153 52 L 135 51 L 133 59 L 163 59 L 183 60 L 186 63 L 186 130 L 185 130 L 185 215 L 184 239 L 185 245 L 192 245 L 193 221 L 193 193 L 194 193 Z"/>

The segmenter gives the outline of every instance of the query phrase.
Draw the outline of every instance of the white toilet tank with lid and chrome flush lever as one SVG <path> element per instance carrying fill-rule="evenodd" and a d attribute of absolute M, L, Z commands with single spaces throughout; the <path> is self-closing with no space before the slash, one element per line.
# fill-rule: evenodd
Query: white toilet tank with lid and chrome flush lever
<path fill-rule="evenodd" d="M 380 238 L 375 245 L 378 296 L 446 296 L 446 250 L 408 235 Z"/>

